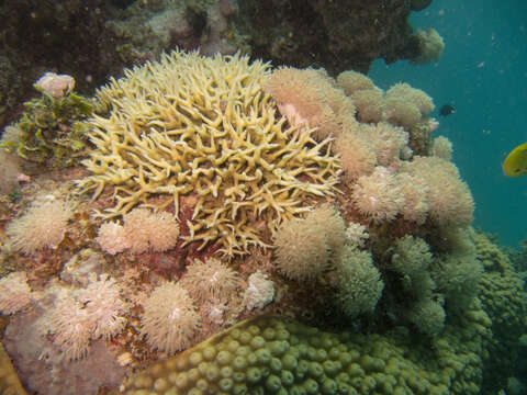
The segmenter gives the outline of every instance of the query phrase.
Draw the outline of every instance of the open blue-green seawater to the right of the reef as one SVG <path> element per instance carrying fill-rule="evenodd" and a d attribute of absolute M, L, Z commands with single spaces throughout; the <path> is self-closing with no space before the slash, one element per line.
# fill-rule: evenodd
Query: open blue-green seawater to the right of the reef
<path fill-rule="evenodd" d="M 435 0 L 412 25 L 435 27 L 446 47 L 438 63 L 374 63 L 378 87 L 405 81 L 434 98 L 435 136 L 453 144 L 453 160 L 475 201 L 474 225 L 516 246 L 527 237 L 527 176 L 503 174 L 511 149 L 527 142 L 527 1 Z M 438 116 L 445 103 L 457 112 Z"/>

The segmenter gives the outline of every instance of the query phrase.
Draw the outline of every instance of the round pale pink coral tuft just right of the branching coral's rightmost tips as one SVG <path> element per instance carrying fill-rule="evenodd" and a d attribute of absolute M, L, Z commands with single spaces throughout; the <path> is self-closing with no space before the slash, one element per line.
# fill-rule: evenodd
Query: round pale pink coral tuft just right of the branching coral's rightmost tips
<path fill-rule="evenodd" d="M 380 166 L 371 176 L 359 177 L 351 200 L 361 214 L 375 223 L 394 219 L 405 203 L 396 178 Z"/>

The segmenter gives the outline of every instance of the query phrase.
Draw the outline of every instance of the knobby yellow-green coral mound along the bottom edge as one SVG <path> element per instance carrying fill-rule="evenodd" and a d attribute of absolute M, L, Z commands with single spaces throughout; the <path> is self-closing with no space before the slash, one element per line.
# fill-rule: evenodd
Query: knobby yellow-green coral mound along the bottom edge
<path fill-rule="evenodd" d="M 431 345 L 260 316 L 130 379 L 139 394 L 478 394 L 491 325 L 474 302 Z M 430 347 L 431 346 L 431 347 Z"/>

